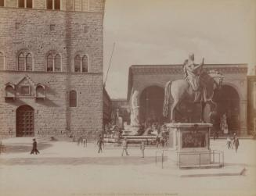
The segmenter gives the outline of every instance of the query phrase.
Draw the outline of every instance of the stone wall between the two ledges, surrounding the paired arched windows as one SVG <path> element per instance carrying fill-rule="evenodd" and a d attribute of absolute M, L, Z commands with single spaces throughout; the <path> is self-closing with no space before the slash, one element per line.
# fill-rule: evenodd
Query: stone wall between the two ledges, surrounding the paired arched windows
<path fill-rule="evenodd" d="M 74 55 L 81 52 L 88 55 L 90 72 L 102 72 L 102 14 L 0 8 L 0 29 L 6 70 L 17 70 L 17 55 L 26 49 L 33 56 L 34 71 L 46 71 L 46 55 L 55 51 L 63 71 L 74 70 Z"/>

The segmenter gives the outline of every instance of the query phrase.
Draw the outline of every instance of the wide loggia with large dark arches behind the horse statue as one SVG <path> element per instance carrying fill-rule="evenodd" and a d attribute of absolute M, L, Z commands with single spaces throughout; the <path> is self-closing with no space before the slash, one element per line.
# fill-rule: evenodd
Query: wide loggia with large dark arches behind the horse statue
<path fill-rule="evenodd" d="M 218 69 L 223 75 L 222 88 L 215 94 L 218 119 L 225 114 L 229 134 L 247 134 L 247 64 L 206 64 L 204 69 Z M 139 91 L 139 123 L 169 122 L 164 118 L 164 86 L 169 80 L 184 78 L 182 65 L 134 65 L 129 69 L 128 101 Z M 210 121 L 210 107 L 205 109 L 205 119 Z M 198 123 L 200 104 L 182 103 L 175 112 L 178 122 Z M 220 130 L 222 131 L 222 130 Z M 223 133 L 220 133 L 223 134 Z"/>

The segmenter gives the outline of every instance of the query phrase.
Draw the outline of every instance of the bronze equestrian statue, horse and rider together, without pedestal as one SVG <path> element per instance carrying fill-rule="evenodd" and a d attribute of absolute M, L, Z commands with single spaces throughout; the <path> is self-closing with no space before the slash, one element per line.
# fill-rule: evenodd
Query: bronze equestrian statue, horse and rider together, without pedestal
<path fill-rule="evenodd" d="M 168 116 L 170 109 L 171 123 L 175 123 L 175 109 L 182 100 L 201 104 L 200 122 L 202 123 L 205 105 L 207 103 L 216 105 L 212 98 L 215 90 L 222 85 L 223 75 L 216 69 L 206 72 L 203 66 L 204 59 L 197 65 L 194 63 L 194 55 L 190 54 L 189 59 L 183 64 L 184 79 L 168 81 L 165 84 L 163 115 Z"/>

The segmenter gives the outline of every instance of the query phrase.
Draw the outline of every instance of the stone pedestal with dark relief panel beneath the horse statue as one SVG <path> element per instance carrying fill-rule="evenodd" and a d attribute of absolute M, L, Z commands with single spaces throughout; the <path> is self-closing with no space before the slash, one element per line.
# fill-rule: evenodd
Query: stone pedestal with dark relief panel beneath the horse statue
<path fill-rule="evenodd" d="M 179 167 L 211 164 L 211 123 L 168 123 L 169 147 L 177 152 Z"/>

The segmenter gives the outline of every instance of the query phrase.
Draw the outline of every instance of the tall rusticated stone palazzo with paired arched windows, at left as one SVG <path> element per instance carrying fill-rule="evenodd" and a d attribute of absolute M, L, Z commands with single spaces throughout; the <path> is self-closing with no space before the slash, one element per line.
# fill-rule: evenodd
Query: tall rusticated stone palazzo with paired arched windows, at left
<path fill-rule="evenodd" d="M 103 130 L 104 0 L 0 0 L 0 137 Z"/>

